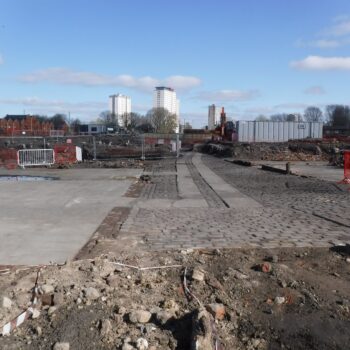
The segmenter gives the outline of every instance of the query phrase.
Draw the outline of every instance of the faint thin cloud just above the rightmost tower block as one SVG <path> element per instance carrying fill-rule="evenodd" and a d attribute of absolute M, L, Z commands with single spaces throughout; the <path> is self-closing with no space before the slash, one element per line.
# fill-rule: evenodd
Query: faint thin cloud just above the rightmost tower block
<path fill-rule="evenodd" d="M 259 96 L 258 90 L 216 90 L 216 91 L 202 91 L 196 98 L 212 102 L 235 102 L 235 101 L 250 101 Z"/>

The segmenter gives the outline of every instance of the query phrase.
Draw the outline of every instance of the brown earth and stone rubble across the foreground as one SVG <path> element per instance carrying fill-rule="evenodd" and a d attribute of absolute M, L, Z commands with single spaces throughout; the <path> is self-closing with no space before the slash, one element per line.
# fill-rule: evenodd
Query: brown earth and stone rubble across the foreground
<path fill-rule="evenodd" d="M 293 248 L 103 255 L 43 267 L 34 306 L 39 268 L 3 268 L 0 327 L 34 312 L 0 348 L 347 349 L 348 260 Z"/>

